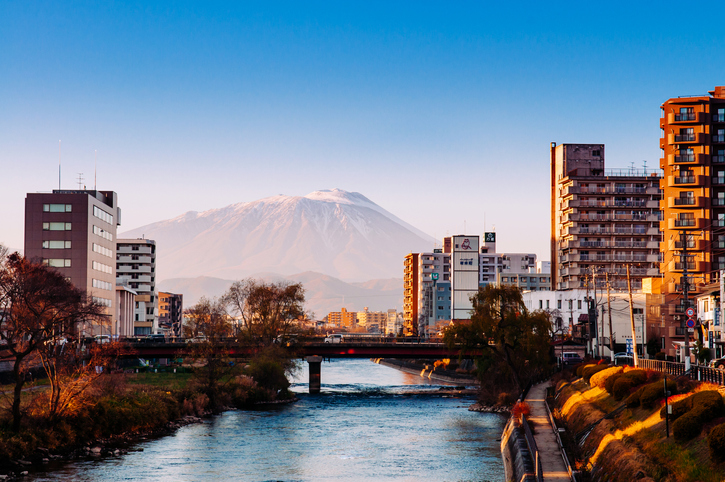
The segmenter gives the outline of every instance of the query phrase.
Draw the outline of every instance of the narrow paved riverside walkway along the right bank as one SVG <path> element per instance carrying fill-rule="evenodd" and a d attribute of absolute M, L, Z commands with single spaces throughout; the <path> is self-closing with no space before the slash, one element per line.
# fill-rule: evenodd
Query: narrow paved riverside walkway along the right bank
<path fill-rule="evenodd" d="M 546 387 L 548 382 L 534 385 L 526 396 L 526 403 L 531 407 L 531 415 L 527 417 L 534 425 L 534 439 L 539 449 L 541 468 L 544 480 L 551 482 L 571 482 L 569 472 L 559 449 L 559 443 L 551 427 L 551 421 L 546 411 Z"/>

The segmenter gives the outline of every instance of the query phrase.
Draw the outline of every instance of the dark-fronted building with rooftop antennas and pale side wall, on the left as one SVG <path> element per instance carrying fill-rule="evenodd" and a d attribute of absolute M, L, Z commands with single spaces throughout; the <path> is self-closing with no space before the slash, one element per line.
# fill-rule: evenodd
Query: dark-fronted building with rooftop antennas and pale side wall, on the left
<path fill-rule="evenodd" d="M 25 198 L 25 256 L 57 269 L 107 309 L 108 323 L 79 326 L 80 335 L 107 334 L 113 326 L 120 224 L 113 191 L 59 189 Z"/>

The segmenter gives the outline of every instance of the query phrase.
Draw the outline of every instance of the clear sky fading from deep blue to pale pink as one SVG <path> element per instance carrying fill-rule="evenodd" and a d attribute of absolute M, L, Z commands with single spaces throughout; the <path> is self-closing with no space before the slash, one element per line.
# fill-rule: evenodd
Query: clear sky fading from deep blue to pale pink
<path fill-rule="evenodd" d="M 725 84 L 714 2 L 239 3 L 0 3 L 1 243 L 62 140 L 121 231 L 338 187 L 548 259 L 550 142 L 655 167 L 660 104 Z"/>

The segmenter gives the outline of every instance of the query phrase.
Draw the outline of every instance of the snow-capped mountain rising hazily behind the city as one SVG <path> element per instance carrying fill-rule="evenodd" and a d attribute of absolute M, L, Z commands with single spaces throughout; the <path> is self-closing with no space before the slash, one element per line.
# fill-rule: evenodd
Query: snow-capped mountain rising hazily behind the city
<path fill-rule="evenodd" d="M 157 280 L 305 271 L 346 281 L 400 278 L 403 257 L 434 243 L 362 194 L 339 189 L 187 212 L 119 237 L 156 241 Z"/>

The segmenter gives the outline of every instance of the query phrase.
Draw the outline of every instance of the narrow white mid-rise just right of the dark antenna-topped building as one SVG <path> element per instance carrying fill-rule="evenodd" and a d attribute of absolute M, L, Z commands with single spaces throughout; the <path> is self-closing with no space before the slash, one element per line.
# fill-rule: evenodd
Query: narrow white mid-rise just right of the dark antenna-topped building
<path fill-rule="evenodd" d="M 116 242 L 116 283 L 136 291 L 134 335 L 158 333 L 156 241 L 119 239 Z"/>

